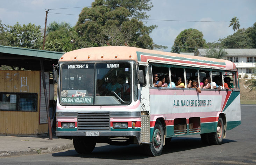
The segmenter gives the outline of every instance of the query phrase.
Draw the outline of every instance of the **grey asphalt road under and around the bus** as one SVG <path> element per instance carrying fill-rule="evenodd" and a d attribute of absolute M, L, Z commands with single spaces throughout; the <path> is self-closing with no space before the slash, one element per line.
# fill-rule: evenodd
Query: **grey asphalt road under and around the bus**
<path fill-rule="evenodd" d="M 202 145 L 200 135 L 173 138 L 158 157 L 143 154 L 139 145 L 97 144 L 90 155 L 74 149 L 58 153 L 0 158 L 1 164 L 256 164 L 256 106 L 241 106 L 241 125 L 229 130 L 222 145 Z"/>

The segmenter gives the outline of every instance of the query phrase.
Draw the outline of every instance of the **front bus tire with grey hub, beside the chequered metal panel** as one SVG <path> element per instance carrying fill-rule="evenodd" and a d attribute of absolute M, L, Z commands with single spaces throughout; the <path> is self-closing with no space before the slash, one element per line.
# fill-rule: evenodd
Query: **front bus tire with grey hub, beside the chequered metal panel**
<path fill-rule="evenodd" d="M 164 129 L 161 122 L 156 121 L 152 142 L 145 145 L 145 151 L 149 156 L 159 156 L 164 147 Z"/>

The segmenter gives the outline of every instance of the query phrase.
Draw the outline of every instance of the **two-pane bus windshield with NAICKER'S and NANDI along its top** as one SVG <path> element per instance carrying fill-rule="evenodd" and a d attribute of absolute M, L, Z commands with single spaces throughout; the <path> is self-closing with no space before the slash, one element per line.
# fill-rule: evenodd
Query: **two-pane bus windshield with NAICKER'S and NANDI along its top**
<path fill-rule="evenodd" d="M 79 63 L 61 67 L 61 105 L 120 105 L 131 100 L 131 64 Z"/>

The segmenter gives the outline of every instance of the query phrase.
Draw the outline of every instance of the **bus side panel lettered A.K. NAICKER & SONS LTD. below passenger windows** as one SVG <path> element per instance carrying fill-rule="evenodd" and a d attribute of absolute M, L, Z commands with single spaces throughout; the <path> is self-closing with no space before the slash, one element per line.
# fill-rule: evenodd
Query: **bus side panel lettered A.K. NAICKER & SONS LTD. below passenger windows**
<path fill-rule="evenodd" d="M 151 137 L 157 118 L 165 120 L 166 137 L 174 136 L 173 122 L 177 118 L 186 118 L 187 124 L 189 124 L 189 118 L 200 117 L 201 133 L 215 132 L 219 114 L 227 105 L 228 96 L 226 90 L 202 90 L 202 93 L 198 93 L 190 89 L 151 88 Z M 232 99 L 230 97 L 230 100 Z M 235 110 L 235 112 L 237 111 Z M 227 115 L 230 117 L 230 114 Z M 240 117 L 240 114 L 237 116 Z"/>

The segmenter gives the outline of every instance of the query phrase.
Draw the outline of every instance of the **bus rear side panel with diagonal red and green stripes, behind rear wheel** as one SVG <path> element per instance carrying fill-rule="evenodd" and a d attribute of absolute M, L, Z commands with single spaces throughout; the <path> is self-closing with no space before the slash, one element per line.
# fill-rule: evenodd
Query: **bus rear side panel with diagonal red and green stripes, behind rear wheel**
<path fill-rule="evenodd" d="M 241 124 L 240 91 L 228 91 L 222 112 L 227 119 L 227 130 Z"/>

